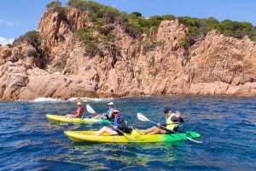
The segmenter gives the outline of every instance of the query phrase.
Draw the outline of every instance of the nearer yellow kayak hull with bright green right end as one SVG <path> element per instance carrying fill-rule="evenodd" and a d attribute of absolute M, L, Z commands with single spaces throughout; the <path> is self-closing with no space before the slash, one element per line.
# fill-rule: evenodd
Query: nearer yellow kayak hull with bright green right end
<path fill-rule="evenodd" d="M 174 142 L 199 138 L 201 135 L 196 132 L 185 132 L 178 134 L 138 134 L 133 129 L 131 134 L 96 136 L 96 131 L 64 131 L 68 139 L 76 142 L 97 142 L 97 143 L 153 143 L 153 142 Z"/>

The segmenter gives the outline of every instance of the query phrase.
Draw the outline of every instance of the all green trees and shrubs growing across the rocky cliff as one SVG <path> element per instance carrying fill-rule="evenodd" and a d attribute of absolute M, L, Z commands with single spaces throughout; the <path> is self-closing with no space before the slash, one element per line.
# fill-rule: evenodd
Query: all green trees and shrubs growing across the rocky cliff
<path fill-rule="evenodd" d="M 191 18 L 189 16 L 176 18 L 172 14 L 163 16 L 154 15 L 149 18 L 144 18 L 143 14 L 137 11 L 127 14 L 113 7 L 85 0 L 70 0 L 67 2 L 67 7 L 62 7 L 61 2 L 59 1 L 53 1 L 47 4 L 46 7 L 54 9 L 61 19 L 66 21 L 68 21 L 66 14 L 67 7 L 79 9 L 82 12 L 88 13 L 88 18 L 84 19 L 84 22 L 90 21 L 93 25 L 90 27 L 84 25 L 84 27 L 74 31 L 74 35 L 79 37 L 81 43 L 84 43 L 85 51 L 90 56 L 95 56 L 96 54 L 102 56 L 102 46 L 105 46 L 106 48 L 106 46 L 109 46 L 118 40 L 119 37 L 116 37 L 116 34 L 113 34 L 115 26 L 122 26 L 123 31 L 125 31 L 126 34 L 133 38 L 140 38 L 143 34 L 154 33 L 157 31 L 162 20 L 177 19 L 180 23 L 189 28 L 186 37 L 183 37 L 182 41 L 179 43 L 179 46 L 185 50 L 189 49 L 195 42 L 203 40 L 207 33 L 214 29 L 218 30 L 226 37 L 236 37 L 240 39 L 247 36 L 251 40 L 256 41 L 256 28 L 248 22 L 232 20 L 223 20 L 219 22 L 213 17 L 207 19 Z M 40 48 L 41 41 L 38 32 L 28 31 L 24 36 L 16 39 L 14 45 L 22 41 L 32 44 L 35 50 L 30 51 L 27 55 L 43 59 L 40 67 L 44 68 L 46 58 L 44 52 Z M 144 50 L 150 50 L 157 45 L 150 37 L 144 41 L 140 40 L 140 43 L 143 45 Z M 186 60 L 185 63 L 188 61 L 189 60 Z"/>

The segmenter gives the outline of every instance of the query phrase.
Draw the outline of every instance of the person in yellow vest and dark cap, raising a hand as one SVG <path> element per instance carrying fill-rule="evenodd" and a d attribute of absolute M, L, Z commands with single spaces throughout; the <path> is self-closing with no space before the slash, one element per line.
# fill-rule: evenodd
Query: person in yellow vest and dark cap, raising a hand
<path fill-rule="evenodd" d="M 166 124 L 157 123 L 157 127 L 146 130 L 137 130 L 139 134 L 172 134 L 177 132 L 178 123 L 184 123 L 180 111 L 172 113 L 172 109 L 166 109 Z"/>

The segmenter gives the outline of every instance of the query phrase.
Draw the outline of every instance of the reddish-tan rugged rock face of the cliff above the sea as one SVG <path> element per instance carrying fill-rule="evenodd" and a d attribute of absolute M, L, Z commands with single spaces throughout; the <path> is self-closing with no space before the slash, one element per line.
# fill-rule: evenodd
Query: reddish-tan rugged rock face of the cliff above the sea
<path fill-rule="evenodd" d="M 164 20 L 151 35 L 132 38 L 116 25 L 115 42 L 91 57 L 73 31 L 92 23 L 86 13 L 68 9 L 67 20 L 46 9 L 39 21 L 41 48 L 49 62 L 42 70 L 27 43 L 0 46 L 0 99 L 37 97 L 120 97 L 154 94 L 256 95 L 256 44 L 211 31 L 184 49 L 188 31 Z M 153 43 L 148 40 L 153 40 Z M 143 44 L 141 43 L 143 40 Z"/>

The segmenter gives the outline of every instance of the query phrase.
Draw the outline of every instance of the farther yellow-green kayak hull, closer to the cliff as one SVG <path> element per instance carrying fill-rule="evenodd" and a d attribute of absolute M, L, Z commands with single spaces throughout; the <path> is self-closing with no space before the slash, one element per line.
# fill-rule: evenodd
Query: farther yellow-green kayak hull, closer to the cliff
<path fill-rule="evenodd" d="M 71 118 L 61 115 L 51 115 L 47 114 L 46 117 L 49 121 L 55 123 L 113 123 L 108 119 L 93 119 L 93 118 Z"/>

